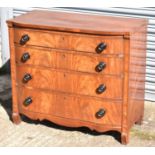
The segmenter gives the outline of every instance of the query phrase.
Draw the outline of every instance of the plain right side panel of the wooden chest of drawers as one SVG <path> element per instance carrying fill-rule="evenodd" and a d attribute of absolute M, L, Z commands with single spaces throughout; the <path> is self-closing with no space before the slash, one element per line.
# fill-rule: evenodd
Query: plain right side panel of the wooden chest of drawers
<path fill-rule="evenodd" d="M 147 26 L 145 25 L 132 35 L 131 40 L 128 108 L 130 127 L 135 122 L 141 124 L 143 121 L 146 73 L 146 33 Z M 138 60 L 138 64 L 136 63 L 135 58 Z"/>

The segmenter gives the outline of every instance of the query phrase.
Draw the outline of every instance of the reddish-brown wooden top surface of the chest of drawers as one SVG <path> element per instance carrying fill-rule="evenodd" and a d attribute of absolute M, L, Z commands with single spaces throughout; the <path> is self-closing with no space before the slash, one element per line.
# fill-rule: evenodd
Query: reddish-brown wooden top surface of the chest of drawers
<path fill-rule="evenodd" d="M 112 35 L 137 31 L 146 22 L 145 19 L 40 10 L 7 21 L 9 26 L 16 27 Z"/>

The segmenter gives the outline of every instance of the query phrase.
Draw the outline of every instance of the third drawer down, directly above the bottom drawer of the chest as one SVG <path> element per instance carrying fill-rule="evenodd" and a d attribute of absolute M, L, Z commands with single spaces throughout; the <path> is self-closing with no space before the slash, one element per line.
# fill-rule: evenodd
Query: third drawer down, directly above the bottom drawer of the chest
<path fill-rule="evenodd" d="M 121 77 L 23 66 L 17 67 L 17 70 L 17 83 L 27 87 L 122 99 Z M 25 83 L 23 83 L 23 79 L 25 79 Z"/>

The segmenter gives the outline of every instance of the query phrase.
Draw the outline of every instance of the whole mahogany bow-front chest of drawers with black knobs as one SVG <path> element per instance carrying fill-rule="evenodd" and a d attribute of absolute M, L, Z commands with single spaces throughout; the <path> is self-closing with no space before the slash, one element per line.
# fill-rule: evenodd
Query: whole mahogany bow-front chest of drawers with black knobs
<path fill-rule="evenodd" d="M 20 115 L 120 132 L 144 112 L 144 19 L 32 11 L 7 21 L 13 122 Z"/>

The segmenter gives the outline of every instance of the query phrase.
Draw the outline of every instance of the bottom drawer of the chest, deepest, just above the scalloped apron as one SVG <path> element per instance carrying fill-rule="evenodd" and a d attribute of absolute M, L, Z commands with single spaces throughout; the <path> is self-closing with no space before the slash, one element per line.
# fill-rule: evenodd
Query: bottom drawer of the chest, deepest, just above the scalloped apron
<path fill-rule="evenodd" d="M 22 87 L 18 90 L 21 110 L 99 124 L 121 125 L 122 104 L 120 102 L 106 102 Z"/>

